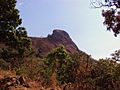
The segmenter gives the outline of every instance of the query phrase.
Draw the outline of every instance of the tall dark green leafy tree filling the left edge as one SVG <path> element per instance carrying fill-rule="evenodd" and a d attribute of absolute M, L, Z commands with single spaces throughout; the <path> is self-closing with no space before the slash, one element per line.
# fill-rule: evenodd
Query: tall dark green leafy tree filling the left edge
<path fill-rule="evenodd" d="M 31 40 L 25 28 L 19 27 L 21 23 L 16 0 L 0 0 L 0 44 L 5 46 L 0 48 L 0 58 L 16 66 L 17 60 L 28 56 L 31 50 Z"/>

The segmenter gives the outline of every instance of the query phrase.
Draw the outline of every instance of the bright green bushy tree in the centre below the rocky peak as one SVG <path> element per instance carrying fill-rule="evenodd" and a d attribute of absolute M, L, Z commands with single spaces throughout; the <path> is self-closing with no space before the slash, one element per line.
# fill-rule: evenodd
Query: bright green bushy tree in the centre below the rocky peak
<path fill-rule="evenodd" d="M 45 61 L 46 73 L 51 76 L 56 73 L 56 79 L 59 84 L 69 83 L 74 81 L 73 64 L 74 61 L 67 53 L 64 46 L 60 46 L 48 54 Z"/>

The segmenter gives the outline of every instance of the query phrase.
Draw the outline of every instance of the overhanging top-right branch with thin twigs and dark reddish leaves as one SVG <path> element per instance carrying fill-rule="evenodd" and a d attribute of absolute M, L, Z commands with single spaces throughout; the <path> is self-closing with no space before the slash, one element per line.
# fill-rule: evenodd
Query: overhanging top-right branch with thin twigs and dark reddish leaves
<path fill-rule="evenodd" d="M 103 24 L 106 25 L 107 30 L 113 31 L 114 36 L 117 37 L 120 33 L 120 0 L 93 0 L 91 4 L 94 8 L 104 7 L 102 10 Z"/>

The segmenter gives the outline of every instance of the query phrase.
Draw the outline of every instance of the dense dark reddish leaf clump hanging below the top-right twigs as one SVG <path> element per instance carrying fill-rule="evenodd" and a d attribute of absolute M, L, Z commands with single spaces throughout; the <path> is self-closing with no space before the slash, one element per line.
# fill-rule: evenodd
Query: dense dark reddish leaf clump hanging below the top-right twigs
<path fill-rule="evenodd" d="M 107 30 L 112 30 L 114 35 L 117 36 L 120 33 L 120 12 L 116 12 L 115 9 L 103 10 L 102 16 L 105 18 L 103 23 Z"/>

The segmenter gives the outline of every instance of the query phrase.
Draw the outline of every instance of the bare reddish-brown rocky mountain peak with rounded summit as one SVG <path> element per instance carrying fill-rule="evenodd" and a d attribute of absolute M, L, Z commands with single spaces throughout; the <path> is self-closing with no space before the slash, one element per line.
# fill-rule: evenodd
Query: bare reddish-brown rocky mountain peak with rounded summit
<path fill-rule="evenodd" d="M 69 34 L 63 30 L 53 30 L 51 35 L 44 38 L 30 38 L 32 40 L 33 47 L 36 49 L 37 53 L 41 55 L 47 54 L 59 45 L 64 45 L 66 50 L 71 54 L 80 52 L 76 44 L 70 38 Z"/>

